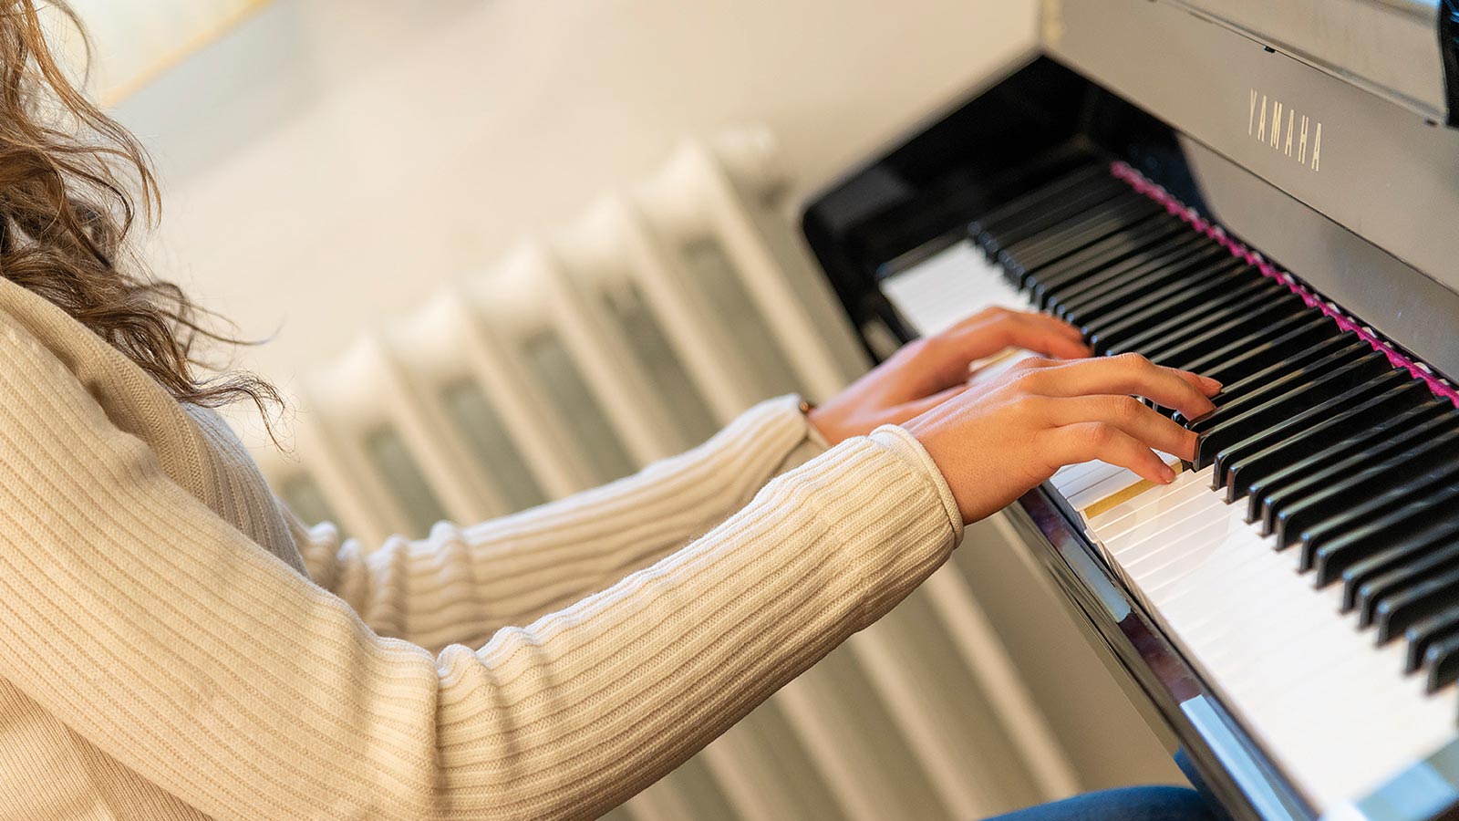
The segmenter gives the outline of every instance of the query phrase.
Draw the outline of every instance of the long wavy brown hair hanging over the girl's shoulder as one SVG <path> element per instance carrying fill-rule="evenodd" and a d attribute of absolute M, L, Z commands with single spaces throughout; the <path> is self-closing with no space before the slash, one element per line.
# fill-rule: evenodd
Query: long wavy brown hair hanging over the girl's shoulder
<path fill-rule="evenodd" d="M 82 32 L 64 1 L 53 1 Z M 160 383 L 178 402 L 247 399 L 267 424 L 268 383 L 198 359 L 200 324 L 181 288 L 150 275 L 130 243 L 160 215 L 147 152 L 67 77 L 34 0 L 0 0 L 0 276 L 45 297 Z M 90 54 L 88 42 L 86 54 Z"/>

